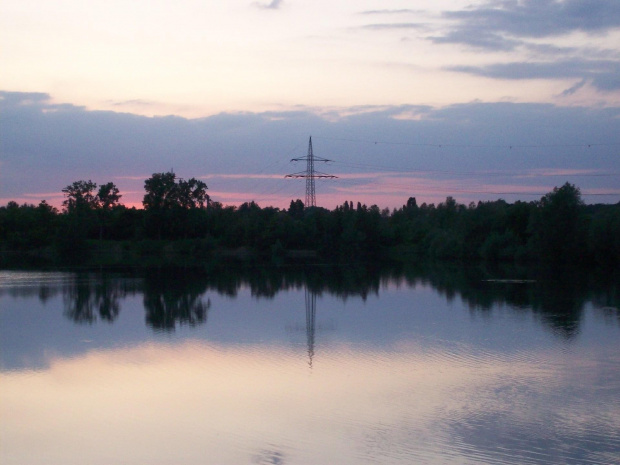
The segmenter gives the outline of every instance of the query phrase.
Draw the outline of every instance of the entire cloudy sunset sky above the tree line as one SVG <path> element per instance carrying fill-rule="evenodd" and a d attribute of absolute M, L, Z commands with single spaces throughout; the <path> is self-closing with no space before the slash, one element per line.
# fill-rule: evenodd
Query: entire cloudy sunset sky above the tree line
<path fill-rule="evenodd" d="M 141 205 L 620 201 L 618 0 L 3 0 L 0 205 L 79 179 Z"/>

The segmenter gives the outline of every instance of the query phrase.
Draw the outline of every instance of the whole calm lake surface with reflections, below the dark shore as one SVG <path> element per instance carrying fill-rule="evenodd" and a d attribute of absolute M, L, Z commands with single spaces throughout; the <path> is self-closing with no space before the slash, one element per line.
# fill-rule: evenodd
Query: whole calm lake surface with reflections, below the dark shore
<path fill-rule="evenodd" d="M 0 271 L 0 463 L 617 464 L 619 289 Z"/>

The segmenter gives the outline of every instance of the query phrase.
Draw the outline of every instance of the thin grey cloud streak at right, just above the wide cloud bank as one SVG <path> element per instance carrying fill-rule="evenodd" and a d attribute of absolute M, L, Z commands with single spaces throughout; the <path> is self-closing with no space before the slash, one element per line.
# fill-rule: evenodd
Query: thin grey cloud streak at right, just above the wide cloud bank
<path fill-rule="evenodd" d="M 495 79 L 587 79 L 598 90 L 620 89 L 620 63 L 610 60 L 513 62 L 488 66 L 452 66 L 446 69 Z"/>

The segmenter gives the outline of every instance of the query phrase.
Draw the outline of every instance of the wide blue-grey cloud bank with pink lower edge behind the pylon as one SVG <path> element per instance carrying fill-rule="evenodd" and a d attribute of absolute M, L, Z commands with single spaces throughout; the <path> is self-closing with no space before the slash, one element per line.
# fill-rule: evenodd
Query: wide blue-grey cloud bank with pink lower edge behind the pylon
<path fill-rule="evenodd" d="M 486 188 L 472 188 L 476 183 L 540 192 L 541 186 L 550 190 L 569 180 L 588 192 L 615 188 L 618 177 L 583 177 L 580 170 L 620 172 L 620 108 L 473 102 L 188 119 L 90 111 L 56 104 L 47 94 L 11 92 L 0 92 L 0 106 L 1 199 L 32 199 L 28 194 L 60 192 L 76 180 L 92 179 L 115 182 L 126 203 L 139 204 L 141 195 L 129 193 L 142 192 L 152 173 L 174 168 L 186 179 L 209 179 L 210 193 L 221 193 L 214 200 L 272 203 L 280 198 L 278 206 L 285 206 L 304 197 L 303 180 L 284 176 L 300 170 L 290 160 L 306 155 L 310 135 L 315 155 L 335 160 L 317 169 L 339 177 L 320 184 L 319 195 L 333 195 L 340 203 L 344 194 L 336 197 L 337 188 L 360 178 L 366 187 L 351 186 L 348 200 L 393 207 L 416 195 L 414 183 L 398 181 L 392 187 L 400 194 L 382 197 L 385 186 L 378 173 L 386 172 L 392 177 L 394 172 L 418 173 L 424 185 L 435 184 L 441 191 L 435 197 L 456 193 L 464 203 L 497 198 L 496 189 L 485 197 L 480 192 Z M 535 169 L 576 171 L 564 171 L 565 179 L 522 177 L 524 170 Z M 511 187 L 510 192 L 519 191 Z"/>

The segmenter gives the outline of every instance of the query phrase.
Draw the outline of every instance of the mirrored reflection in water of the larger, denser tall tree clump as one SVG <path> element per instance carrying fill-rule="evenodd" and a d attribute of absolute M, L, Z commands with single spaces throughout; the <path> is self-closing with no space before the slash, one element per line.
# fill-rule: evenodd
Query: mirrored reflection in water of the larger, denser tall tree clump
<path fill-rule="evenodd" d="M 157 330 L 173 330 L 177 323 L 195 326 L 207 321 L 211 301 L 202 295 L 208 281 L 195 272 L 157 270 L 147 274 L 144 285 L 146 323 Z"/>

